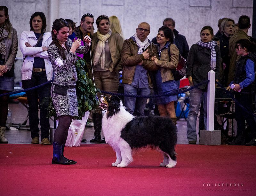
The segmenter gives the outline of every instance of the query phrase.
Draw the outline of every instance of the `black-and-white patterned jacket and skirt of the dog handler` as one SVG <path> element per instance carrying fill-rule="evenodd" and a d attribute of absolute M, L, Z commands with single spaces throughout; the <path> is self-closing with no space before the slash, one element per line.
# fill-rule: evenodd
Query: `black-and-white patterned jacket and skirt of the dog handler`
<path fill-rule="evenodd" d="M 71 48 L 73 42 L 70 39 L 68 39 L 67 42 Z M 76 49 L 76 52 L 82 54 L 87 53 L 88 51 L 89 46 L 87 44 L 85 44 L 85 46 L 79 46 L 79 48 Z M 67 58 L 63 60 L 60 56 L 58 47 L 53 42 L 49 45 L 47 52 L 54 71 L 53 83 L 63 86 L 75 86 L 77 80 L 75 67 L 76 54 L 65 50 Z M 78 116 L 76 88 L 68 89 L 66 96 L 54 93 L 54 88 L 55 86 L 52 85 L 51 95 L 57 117 L 65 115 Z"/>

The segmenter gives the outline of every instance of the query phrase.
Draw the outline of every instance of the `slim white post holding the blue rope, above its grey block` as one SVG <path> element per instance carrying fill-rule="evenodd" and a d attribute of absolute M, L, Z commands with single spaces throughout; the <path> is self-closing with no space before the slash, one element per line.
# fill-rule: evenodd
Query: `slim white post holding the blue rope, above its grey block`
<path fill-rule="evenodd" d="M 207 89 L 207 123 L 206 130 L 214 130 L 214 99 L 215 99 L 215 72 L 208 72 L 208 89 Z"/>

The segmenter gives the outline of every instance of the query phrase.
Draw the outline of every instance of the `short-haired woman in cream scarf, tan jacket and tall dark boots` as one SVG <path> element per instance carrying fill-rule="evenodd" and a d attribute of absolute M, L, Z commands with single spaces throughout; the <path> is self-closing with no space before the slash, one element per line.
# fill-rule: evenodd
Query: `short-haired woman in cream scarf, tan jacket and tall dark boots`
<path fill-rule="evenodd" d="M 118 73 L 122 69 L 121 50 L 123 38 L 111 31 L 108 16 L 101 15 L 97 18 L 98 30 L 92 35 L 92 71 L 96 87 L 100 90 L 117 93 L 119 86 Z M 92 74 L 91 74 L 92 77 Z M 98 97 L 100 94 L 98 93 Z M 101 108 L 93 114 L 94 137 L 90 142 L 105 143 L 101 139 Z"/>

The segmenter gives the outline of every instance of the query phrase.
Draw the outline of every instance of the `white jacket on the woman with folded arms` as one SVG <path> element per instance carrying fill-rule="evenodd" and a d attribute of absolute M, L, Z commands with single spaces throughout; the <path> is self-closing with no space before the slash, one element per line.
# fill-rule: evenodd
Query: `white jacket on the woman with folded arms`
<path fill-rule="evenodd" d="M 46 32 L 43 35 L 42 46 L 48 48 L 52 42 L 52 36 L 50 32 Z M 28 42 L 32 47 L 27 47 L 25 42 Z M 32 68 L 34 64 L 34 57 L 40 57 L 44 59 L 45 71 L 47 80 L 52 80 L 53 69 L 52 64 L 49 61 L 47 51 L 43 51 L 43 47 L 33 47 L 37 43 L 37 38 L 34 31 L 23 31 L 20 35 L 20 50 L 23 54 L 23 59 L 25 56 L 28 56 L 24 61 L 21 67 L 21 80 L 30 80 L 32 75 Z"/>

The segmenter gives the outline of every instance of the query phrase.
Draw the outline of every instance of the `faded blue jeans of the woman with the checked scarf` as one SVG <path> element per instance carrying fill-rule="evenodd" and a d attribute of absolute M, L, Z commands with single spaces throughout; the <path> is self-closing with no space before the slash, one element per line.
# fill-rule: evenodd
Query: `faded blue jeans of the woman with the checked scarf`
<path fill-rule="evenodd" d="M 207 114 L 207 92 L 203 92 L 202 89 L 192 89 L 189 91 L 189 112 L 188 112 L 188 141 L 196 141 L 196 120 L 199 112 L 199 106 L 202 101 L 204 104 L 204 126 L 206 127 L 206 114 Z"/>

